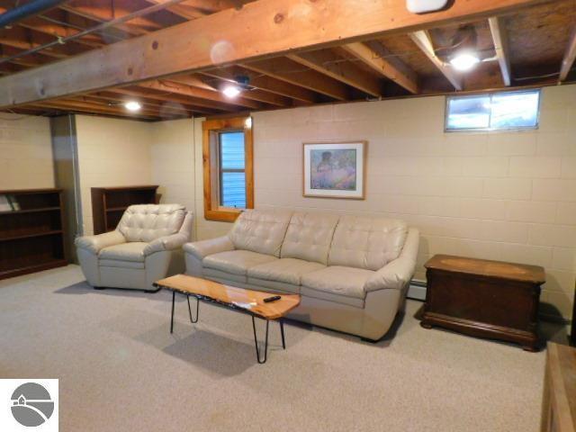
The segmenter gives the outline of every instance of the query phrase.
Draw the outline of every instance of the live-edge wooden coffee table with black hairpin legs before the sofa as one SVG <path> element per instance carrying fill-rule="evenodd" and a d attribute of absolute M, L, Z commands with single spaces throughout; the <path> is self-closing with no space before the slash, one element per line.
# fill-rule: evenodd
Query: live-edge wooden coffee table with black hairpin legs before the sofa
<path fill-rule="evenodd" d="M 199 277 L 189 275 L 175 275 L 166 277 L 154 283 L 157 288 L 164 288 L 172 291 L 172 317 L 170 320 L 170 333 L 174 331 L 174 305 L 175 294 L 182 293 L 188 302 L 188 313 L 192 323 L 198 322 L 198 312 L 200 301 L 211 302 L 225 306 L 233 311 L 247 313 L 252 316 L 252 329 L 254 329 L 254 344 L 256 345 L 256 357 L 259 364 L 266 363 L 268 354 L 268 324 L 270 320 L 277 320 L 280 323 L 280 333 L 282 335 L 282 347 L 286 349 L 284 342 L 284 316 L 300 304 L 299 294 L 275 294 L 262 291 L 245 290 L 208 281 Z M 266 297 L 281 295 L 282 298 L 275 302 L 265 303 Z M 192 318 L 192 308 L 190 307 L 190 296 L 196 298 L 196 318 Z M 255 318 L 266 320 L 266 342 L 264 347 L 264 358 L 260 358 L 258 339 L 256 335 Z"/>

